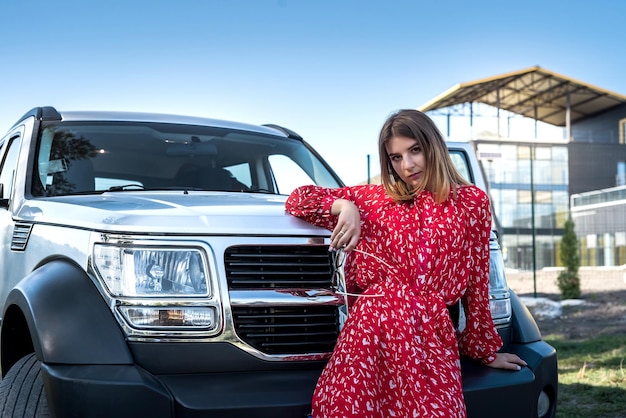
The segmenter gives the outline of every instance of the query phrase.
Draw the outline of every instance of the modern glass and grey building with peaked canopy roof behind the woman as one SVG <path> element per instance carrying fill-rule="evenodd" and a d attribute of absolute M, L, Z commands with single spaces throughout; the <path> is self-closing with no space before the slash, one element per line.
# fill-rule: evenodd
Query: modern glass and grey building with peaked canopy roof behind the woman
<path fill-rule="evenodd" d="M 614 196 L 611 188 L 626 184 L 626 96 L 531 67 L 458 84 L 418 109 L 448 137 L 474 144 L 490 183 L 507 267 L 560 265 L 559 242 L 570 213 L 583 265 L 626 263 L 625 223 L 608 222 L 605 209 L 581 209 L 583 196 Z M 477 121 L 489 112 L 496 129 L 475 134 Z M 469 128 L 455 137 L 458 117 L 469 120 Z M 520 118 L 534 129 L 514 128 Z M 556 127 L 547 139 L 538 135 L 545 126 Z M 624 198 L 607 206 L 618 216 L 626 213 Z"/>

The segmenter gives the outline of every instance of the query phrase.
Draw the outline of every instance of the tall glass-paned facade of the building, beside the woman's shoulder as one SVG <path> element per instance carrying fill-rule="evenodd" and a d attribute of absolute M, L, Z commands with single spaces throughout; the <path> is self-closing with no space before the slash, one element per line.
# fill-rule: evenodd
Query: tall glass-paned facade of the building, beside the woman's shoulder
<path fill-rule="evenodd" d="M 567 146 L 474 144 L 498 218 L 505 265 L 521 270 L 558 266 L 569 210 Z"/>

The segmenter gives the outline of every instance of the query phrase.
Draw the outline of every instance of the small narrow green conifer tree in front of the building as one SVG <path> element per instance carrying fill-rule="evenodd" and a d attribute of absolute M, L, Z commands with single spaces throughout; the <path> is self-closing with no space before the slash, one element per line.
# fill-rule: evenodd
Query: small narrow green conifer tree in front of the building
<path fill-rule="evenodd" d="M 578 254 L 578 238 L 574 231 L 574 221 L 571 216 L 565 221 L 565 231 L 561 239 L 561 262 L 565 270 L 559 273 L 556 281 L 561 291 L 562 299 L 577 299 L 580 297 L 580 256 Z"/>

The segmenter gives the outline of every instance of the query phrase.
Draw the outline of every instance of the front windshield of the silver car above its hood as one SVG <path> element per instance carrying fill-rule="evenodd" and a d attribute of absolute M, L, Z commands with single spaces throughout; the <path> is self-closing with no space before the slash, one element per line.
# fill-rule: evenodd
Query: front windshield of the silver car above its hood
<path fill-rule="evenodd" d="M 303 141 L 196 125 L 53 123 L 39 138 L 34 196 L 122 190 L 287 195 L 341 182 Z"/>

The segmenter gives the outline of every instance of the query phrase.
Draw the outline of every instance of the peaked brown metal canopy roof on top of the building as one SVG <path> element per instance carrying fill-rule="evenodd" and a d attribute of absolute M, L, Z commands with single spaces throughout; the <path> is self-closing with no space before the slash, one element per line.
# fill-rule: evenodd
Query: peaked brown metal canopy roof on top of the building
<path fill-rule="evenodd" d="M 457 84 L 418 110 L 427 112 L 474 102 L 567 126 L 626 103 L 626 96 L 535 66 Z"/>

